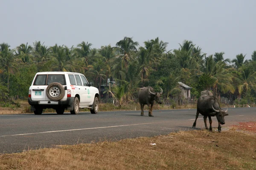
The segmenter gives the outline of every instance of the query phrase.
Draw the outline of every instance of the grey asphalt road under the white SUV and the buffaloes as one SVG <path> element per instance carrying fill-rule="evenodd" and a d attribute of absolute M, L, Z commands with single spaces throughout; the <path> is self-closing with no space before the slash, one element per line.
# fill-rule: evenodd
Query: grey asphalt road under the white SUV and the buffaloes
<path fill-rule="evenodd" d="M 154 117 L 140 116 L 140 111 L 110 111 L 78 115 L 43 113 L 42 115 L 0 115 L 0 154 L 55 147 L 62 144 L 120 140 L 141 136 L 164 135 L 179 130 L 194 130 L 195 109 L 154 110 Z M 238 122 L 256 121 L 256 108 L 229 108 L 222 127 Z M 214 117 L 212 127 L 217 128 Z M 209 126 L 209 121 L 207 119 Z M 204 128 L 203 116 L 197 128 Z"/>

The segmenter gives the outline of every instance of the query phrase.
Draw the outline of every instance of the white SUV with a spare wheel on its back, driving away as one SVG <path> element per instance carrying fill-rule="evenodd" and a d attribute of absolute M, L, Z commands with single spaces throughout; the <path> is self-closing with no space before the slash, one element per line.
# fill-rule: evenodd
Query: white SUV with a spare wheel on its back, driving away
<path fill-rule="evenodd" d="M 80 73 L 39 72 L 29 87 L 28 102 L 35 114 L 42 114 L 45 108 L 53 108 L 57 114 L 63 114 L 65 109 L 78 114 L 79 108 L 90 108 L 90 112 L 96 114 L 99 90 L 90 86 Z"/>

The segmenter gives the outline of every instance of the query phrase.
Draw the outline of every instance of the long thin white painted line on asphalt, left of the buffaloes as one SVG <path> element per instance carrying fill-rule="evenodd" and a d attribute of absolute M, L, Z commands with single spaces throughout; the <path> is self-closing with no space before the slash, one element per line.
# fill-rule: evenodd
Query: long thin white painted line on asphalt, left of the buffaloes
<path fill-rule="evenodd" d="M 164 122 L 168 122 L 168 121 L 164 121 Z M 74 130 L 103 129 L 103 128 L 110 128 L 110 127 L 122 127 L 122 126 L 134 126 L 134 125 L 147 125 L 147 124 L 153 124 L 153 123 L 163 123 L 163 122 L 140 123 L 140 124 L 131 124 L 131 125 L 116 125 L 116 126 L 105 126 L 105 127 L 91 127 L 91 128 L 70 129 L 70 130 L 55 130 L 55 131 L 36 132 L 36 133 L 23 133 L 23 134 L 15 134 L 15 135 L 3 135 L 3 136 L 0 136 L 0 137 L 23 136 L 23 135 L 33 135 L 33 134 L 53 133 L 53 132 L 66 132 L 66 131 L 74 131 Z"/>

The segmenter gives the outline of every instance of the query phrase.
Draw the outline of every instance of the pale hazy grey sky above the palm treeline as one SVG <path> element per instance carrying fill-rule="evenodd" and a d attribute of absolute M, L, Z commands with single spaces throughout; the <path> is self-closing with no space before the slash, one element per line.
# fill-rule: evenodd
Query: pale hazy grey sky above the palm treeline
<path fill-rule="evenodd" d="M 0 0 L 0 43 L 92 48 L 159 37 L 168 50 L 192 40 L 224 58 L 256 50 L 256 0 Z"/>

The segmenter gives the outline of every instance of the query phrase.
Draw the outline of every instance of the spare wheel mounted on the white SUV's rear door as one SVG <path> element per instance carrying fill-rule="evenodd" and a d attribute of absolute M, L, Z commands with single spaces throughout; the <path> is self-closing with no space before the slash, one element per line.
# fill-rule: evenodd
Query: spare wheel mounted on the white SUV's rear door
<path fill-rule="evenodd" d="M 65 95 L 64 87 L 61 83 L 52 82 L 46 88 L 46 96 L 52 101 L 61 100 Z"/>

